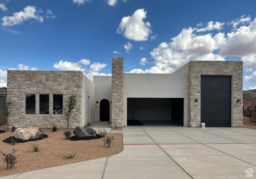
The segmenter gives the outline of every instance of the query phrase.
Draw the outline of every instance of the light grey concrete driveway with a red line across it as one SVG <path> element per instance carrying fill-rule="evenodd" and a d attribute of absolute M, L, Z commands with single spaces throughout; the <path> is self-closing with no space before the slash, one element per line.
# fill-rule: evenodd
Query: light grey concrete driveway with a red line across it
<path fill-rule="evenodd" d="M 0 178 L 256 178 L 255 130 L 148 123 L 124 127 L 123 143 L 114 156 Z"/>

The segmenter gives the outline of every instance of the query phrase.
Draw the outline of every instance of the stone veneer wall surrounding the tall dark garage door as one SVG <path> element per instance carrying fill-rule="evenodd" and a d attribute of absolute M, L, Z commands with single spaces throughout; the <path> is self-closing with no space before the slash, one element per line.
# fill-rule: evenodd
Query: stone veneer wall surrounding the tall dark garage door
<path fill-rule="evenodd" d="M 232 75 L 233 83 L 233 127 L 243 126 L 243 61 L 189 61 L 188 62 L 188 126 L 200 127 L 201 75 Z M 195 99 L 199 105 L 195 106 Z"/>

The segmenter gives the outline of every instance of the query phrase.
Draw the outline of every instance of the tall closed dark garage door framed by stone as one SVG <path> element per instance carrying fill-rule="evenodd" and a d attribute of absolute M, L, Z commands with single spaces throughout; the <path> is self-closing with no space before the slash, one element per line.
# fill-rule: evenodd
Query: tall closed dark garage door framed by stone
<path fill-rule="evenodd" d="M 231 127 L 231 76 L 201 75 L 201 122 Z"/>

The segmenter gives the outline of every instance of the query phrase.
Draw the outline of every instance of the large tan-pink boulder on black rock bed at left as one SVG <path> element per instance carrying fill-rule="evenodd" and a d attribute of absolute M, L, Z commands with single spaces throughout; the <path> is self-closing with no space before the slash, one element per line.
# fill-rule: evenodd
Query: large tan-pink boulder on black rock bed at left
<path fill-rule="evenodd" d="M 39 129 L 37 127 L 30 127 L 30 128 L 18 128 L 14 132 L 13 136 L 16 139 L 27 140 L 38 137 L 37 134 L 39 133 Z"/>

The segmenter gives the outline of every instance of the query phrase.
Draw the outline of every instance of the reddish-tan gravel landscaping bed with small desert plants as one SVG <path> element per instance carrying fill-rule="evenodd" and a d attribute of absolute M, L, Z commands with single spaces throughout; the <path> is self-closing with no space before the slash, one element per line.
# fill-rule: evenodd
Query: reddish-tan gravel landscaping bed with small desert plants
<path fill-rule="evenodd" d="M 0 130 L 6 130 L 6 125 L 1 125 Z M 115 138 L 108 148 L 104 146 L 103 138 L 77 141 L 65 140 L 63 132 L 64 129 L 58 129 L 56 132 L 52 132 L 51 129 L 44 129 L 44 133 L 48 135 L 48 138 L 16 143 L 15 145 L 2 142 L 2 140 L 13 136 L 14 132 L 1 133 L 0 150 L 11 152 L 12 148 L 15 147 L 17 149 L 15 154 L 17 153 L 19 156 L 17 158 L 18 162 L 11 170 L 6 170 L 6 164 L 0 160 L 0 176 L 108 157 L 118 154 L 123 150 L 122 134 L 107 133 L 106 137 L 114 136 Z M 33 151 L 33 144 L 39 147 L 38 152 Z M 76 153 L 76 155 L 73 159 L 65 159 L 64 155 L 66 155 L 66 152 Z M 0 156 L 0 159 L 2 158 Z"/>

